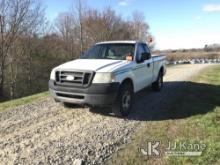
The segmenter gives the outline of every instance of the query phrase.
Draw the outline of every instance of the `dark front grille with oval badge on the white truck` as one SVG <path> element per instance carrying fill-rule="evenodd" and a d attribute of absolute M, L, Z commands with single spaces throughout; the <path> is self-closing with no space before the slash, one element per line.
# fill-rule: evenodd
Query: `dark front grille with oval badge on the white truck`
<path fill-rule="evenodd" d="M 89 71 L 57 71 L 56 83 L 58 85 L 88 86 L 94 73 Z"/>

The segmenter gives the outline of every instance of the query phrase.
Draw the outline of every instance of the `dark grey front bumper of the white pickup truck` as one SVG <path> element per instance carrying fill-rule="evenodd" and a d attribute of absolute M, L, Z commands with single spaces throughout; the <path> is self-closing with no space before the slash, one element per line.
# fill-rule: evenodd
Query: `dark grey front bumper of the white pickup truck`
<path fill-rule="evenodd" d="M 110 106 L 117 97 L 118 89 L 119 83 L 91 84 L 83 88 L 59 86 L 53 80 L 49 81 L 49 91 L 55 100 L 73 104 Z"/>

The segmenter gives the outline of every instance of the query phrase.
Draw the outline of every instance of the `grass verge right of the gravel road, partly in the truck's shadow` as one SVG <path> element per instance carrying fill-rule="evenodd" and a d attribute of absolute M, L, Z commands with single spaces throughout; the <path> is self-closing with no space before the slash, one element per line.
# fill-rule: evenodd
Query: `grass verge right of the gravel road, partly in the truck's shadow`
<path fill-rule="evenodd" d="M 107 164 L 220 164 L 220 65 L 204 69 L 186 83 L 180 95 L 166 107 L 165 120 L 146 121 L 125 146 Z M 147 157 L 139 148 L 150 140 L 202 143 L 202 156 Z"/>

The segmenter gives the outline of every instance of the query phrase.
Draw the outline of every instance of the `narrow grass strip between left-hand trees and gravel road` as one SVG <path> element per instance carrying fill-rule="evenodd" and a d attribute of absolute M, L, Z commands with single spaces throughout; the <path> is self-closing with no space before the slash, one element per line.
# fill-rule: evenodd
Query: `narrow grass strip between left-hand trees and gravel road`
<path fill-rule="evenodd" d="M 23 98 L 12 100 L 12 101 L 6 101 L 3 103 L 0 103 L 0 111 L 4 111 L 8 108 L 13 108 L 19 105 L 29 104 L 29 103 L 32 103 L 33 101 L 43 99 L 47 96 L 48 96 L 48 92 L 43 92 L 43 93 L 23 97 Z"/>

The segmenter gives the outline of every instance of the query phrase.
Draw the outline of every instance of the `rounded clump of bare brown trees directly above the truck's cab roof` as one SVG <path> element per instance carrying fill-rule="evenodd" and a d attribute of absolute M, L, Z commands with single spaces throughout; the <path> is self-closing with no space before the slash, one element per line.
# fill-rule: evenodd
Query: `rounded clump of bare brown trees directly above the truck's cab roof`
<path fill-rule="evenodd" d="M 133 23 L 125 21 L 110 7 L 104 11 L 89 9 L 83 19 L 86 45 L 106 40 L 129 40 L 134 37 Z M 89 44 L 88 44 L 89 43 Z"/>

